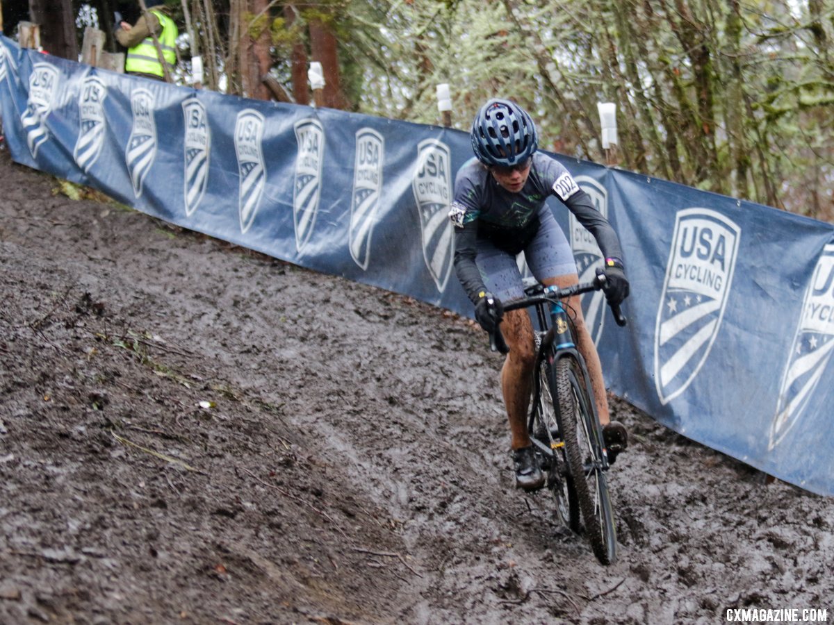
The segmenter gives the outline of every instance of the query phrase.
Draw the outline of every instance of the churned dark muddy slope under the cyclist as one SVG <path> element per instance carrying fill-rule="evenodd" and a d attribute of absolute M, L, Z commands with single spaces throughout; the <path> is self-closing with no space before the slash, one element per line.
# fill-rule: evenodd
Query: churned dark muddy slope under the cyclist
<path fill-rule="evenodd" d="M 834 618 L 831 498 L 613 400 L 602 567 L 513 488 L 500 358 L 467 320 L 5 152 L 0 188 L 0 622 Z"/>

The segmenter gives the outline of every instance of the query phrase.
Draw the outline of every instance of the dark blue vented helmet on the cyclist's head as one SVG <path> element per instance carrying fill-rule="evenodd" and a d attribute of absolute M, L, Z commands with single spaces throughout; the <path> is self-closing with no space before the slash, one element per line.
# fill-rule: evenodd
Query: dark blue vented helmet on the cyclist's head
<path fill-rule="evenodd" d="M 515 102 L 492 99 L 472 122 L 472 149 L 485 165 L 512 167 L 524 163 L 538 148 L 530 115 Z"/>

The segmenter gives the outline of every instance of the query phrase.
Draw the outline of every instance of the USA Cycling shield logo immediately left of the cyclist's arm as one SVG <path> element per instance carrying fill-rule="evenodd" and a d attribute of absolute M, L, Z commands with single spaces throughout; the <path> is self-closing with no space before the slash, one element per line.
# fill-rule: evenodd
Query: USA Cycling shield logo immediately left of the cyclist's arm
<path fill-rule="evenodd" d="M 425 266 L 438 290 L 446 288 L 452 270 L 453 230 L 448 218 L 452 196 L 449 146 L 425 139 L 417 146 L 417 168 L 411 188 L 420 213 Z"/>

